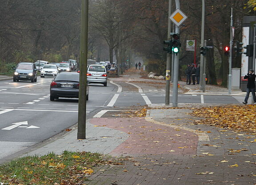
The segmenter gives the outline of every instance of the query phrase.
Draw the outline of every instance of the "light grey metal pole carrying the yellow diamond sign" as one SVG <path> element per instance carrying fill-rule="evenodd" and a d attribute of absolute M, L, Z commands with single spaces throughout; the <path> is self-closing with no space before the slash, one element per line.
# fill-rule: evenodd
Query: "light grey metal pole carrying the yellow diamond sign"
<path fill-rule="evenodd" d="M 180 8 L 180 0 L 175 0 L 176 9 Z M 175 33 L 180 34 L 180 28 L 176 26 Z M 180 54 L 177 53 L 174 59 L 174 69 L 173 69 L 173 95 L 172 95 L 172 106 L 178 106 L 178 80 L 179 80 L 179 59 Z"/>

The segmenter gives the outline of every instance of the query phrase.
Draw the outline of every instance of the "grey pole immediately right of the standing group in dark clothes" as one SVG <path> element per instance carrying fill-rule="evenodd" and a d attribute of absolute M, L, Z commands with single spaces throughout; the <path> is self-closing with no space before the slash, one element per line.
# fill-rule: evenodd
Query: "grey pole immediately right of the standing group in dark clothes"
<path fill-rule="evenodd" d="M 204 47 L 204 16 L 205 16 L 205 10 L 204 10 L 204 0 L 202 0 L 202 27 L 201 27 L 201 47 Z M 204 55 L 200 55 L 200 82 L 199 82 L 199 90 L 205 92 L 205 86 L 204 82 L 205 79 L 203 79 L 203 71 L 204 70 Z"/>

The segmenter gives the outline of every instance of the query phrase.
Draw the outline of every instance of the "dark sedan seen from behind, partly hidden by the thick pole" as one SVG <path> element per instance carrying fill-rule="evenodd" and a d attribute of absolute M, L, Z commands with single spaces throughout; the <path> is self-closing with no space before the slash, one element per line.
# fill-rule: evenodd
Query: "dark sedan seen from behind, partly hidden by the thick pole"
<path fill-rule="evenodd" d="M 52 81 L 50 87 L 50 100 L 58 98 L 79 98 L 79 73 L 60 73 Z M 87 85 L 86 100 L 89 98 Z"/>

